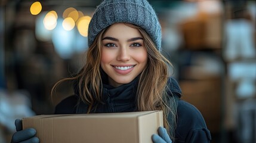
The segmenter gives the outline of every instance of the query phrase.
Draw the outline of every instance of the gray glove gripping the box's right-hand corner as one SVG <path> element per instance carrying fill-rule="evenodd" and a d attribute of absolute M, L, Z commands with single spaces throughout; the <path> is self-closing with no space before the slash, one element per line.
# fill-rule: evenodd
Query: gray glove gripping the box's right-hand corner
<path fill-rule="evenodd" d="M 154 143 L 172 143 L 166 129 L 163 127 L 158 128 L 158 135 L 152 135 L 152 141 Z"/>

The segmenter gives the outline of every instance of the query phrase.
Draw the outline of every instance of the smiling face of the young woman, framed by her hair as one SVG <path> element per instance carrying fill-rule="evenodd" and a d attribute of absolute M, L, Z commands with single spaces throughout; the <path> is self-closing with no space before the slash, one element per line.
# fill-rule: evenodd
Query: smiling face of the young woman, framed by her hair
<path fill-rule="evenodd" d="M 109 84 L 117 87 L 131 82 L 146 64 L 147 51 L 140 32 L 124 23 L 110 26 L 102 38 L 100 61 Z"/>

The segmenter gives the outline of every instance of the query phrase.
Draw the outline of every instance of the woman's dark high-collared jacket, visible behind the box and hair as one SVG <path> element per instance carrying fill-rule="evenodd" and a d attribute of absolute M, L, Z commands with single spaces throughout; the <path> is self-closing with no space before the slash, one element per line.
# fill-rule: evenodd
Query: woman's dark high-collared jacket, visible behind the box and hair
<path fill-rule="evenodd" d="M 135 87 L 137 87 L 137 79 L 118 88 L 103 85 L 103 102 L 97 104 L 97 108 L 94 108 L 94 113 L 136 111 Z M 169 88 L 171 89 L 170 94 L 181 97 L 181 90 L 175 79 L 170 78 Z M 77 95 L 67 97 L 55 107 L 55 114 L 86 113 L 87 104 L 78 102 L 78 100 L 79 97 Z M 175 143 L 210 142 L 211 134 L 200 111 L 186 101 L 178 100 L 177 102 Z"/>

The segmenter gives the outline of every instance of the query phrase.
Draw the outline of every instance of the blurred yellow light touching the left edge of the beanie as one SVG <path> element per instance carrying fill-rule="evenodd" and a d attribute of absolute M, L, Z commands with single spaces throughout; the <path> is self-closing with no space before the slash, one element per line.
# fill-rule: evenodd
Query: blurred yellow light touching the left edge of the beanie
<path fill-rule="evenodd" d="M 91 21 L 90 16 L 84 16 L 79 18 L 79 20 L 76 23 L 78 27 L 78 32 L 84 37 L 88 36 L 88 27 L 89 27 L 90 21 Z"/>

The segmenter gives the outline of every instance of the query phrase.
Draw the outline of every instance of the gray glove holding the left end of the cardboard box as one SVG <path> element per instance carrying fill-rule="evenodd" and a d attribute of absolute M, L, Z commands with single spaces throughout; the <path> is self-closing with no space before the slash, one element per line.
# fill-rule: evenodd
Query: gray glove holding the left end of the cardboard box
<path fill-rule="evenodd" d="M 22 130 L 22 122 L 20 119 L 15 120 L 15 126 L 17 132 L 13 134 L 13 137 L 11 138 L 11 143 L 39 143 L 39 138 L 35 136 L 35 129 L 28 128 Z"/>

